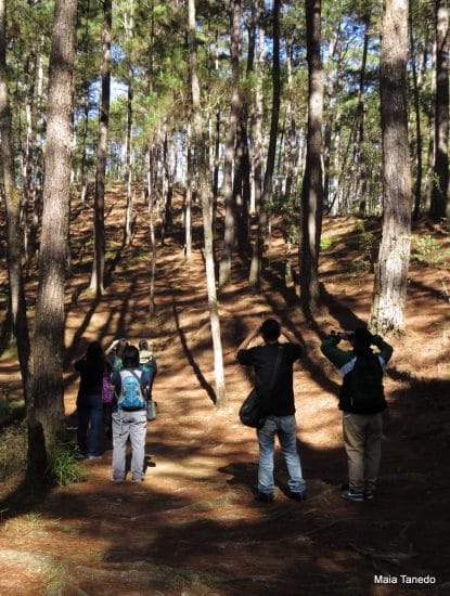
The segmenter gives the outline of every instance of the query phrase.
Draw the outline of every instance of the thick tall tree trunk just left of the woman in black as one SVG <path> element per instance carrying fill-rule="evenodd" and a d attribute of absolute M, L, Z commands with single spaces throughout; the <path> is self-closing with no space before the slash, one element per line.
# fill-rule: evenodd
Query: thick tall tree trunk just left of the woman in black
<path fill-rule="evenodd" d="M 56 0 L 49 77 L 39 285 L 28 405 L 28 477 L 42 478 L 64 431 L 64 285 L 77 0 Z"/>

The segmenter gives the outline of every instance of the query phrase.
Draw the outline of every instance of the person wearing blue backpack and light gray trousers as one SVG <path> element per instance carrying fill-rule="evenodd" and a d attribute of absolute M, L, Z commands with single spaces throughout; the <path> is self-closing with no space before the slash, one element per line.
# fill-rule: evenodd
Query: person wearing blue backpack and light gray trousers
<path fill-rule="evenodd" d="M 113 371 L 113 482 L 125 480 L 127 441 L 131 442 L 131 476 L 133 482 L 143 480 L 146 436 L 146 401 L 150 375 L 139 366 L 139 350 L 127 346 L 123 353 L 124 368 Z"/>

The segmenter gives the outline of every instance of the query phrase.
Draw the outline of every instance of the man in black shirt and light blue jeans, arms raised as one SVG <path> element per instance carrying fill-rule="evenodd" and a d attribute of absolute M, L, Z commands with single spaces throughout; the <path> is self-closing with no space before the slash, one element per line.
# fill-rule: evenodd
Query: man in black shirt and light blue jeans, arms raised
<path fill-rule="evenodd" d="M 259 335 L 262 336 L 265 345 L 248 349 L 250 342 Z M 287 344 L 279 342 L 281 335 L 287 339 Z M 259 466 L 258 484 L 255 488 L 255 498 L 263 503 L 273 501 L 275 435 L 290 475 L 288 494 L 298 501 L 306 496 L 306 482 L 297 452 L 293 389 L 293 364 L 300 358 L 301 352 L 300 344 L 290 332 L 281 328 L 274 319 L 267 319 L 258 329 L 248 334 L 235 353 L 240 364 L 254 367 L 255 389 L 267 416 L 262 428 L 257 430 Z"/>

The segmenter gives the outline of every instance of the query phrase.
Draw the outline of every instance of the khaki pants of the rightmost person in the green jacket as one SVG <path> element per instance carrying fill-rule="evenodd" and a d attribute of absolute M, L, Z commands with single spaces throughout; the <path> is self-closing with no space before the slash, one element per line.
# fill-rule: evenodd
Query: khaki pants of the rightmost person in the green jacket
<path fill-rule="evenodd" d="M 373 490 L 382 456 L 382 414 L 344 412 L 343 430 L 350 489 L 356 492 Z"/>

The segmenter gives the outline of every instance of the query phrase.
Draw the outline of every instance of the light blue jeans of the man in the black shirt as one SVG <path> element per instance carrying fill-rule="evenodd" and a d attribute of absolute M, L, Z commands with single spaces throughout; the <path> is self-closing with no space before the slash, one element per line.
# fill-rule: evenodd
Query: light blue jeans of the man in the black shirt
<path fill-rule="evenodd" d="M 295 416 L 268 416 L 265 426 L 257 431 L 257 435 L 259 443 L 258 491 L 265 494 L 273 493 L 274 437 L 278 435 L 290 475 L 287 482 L 290 491 L 293 493 L 304 492 L 306 483 L 297 452 Z"/>

